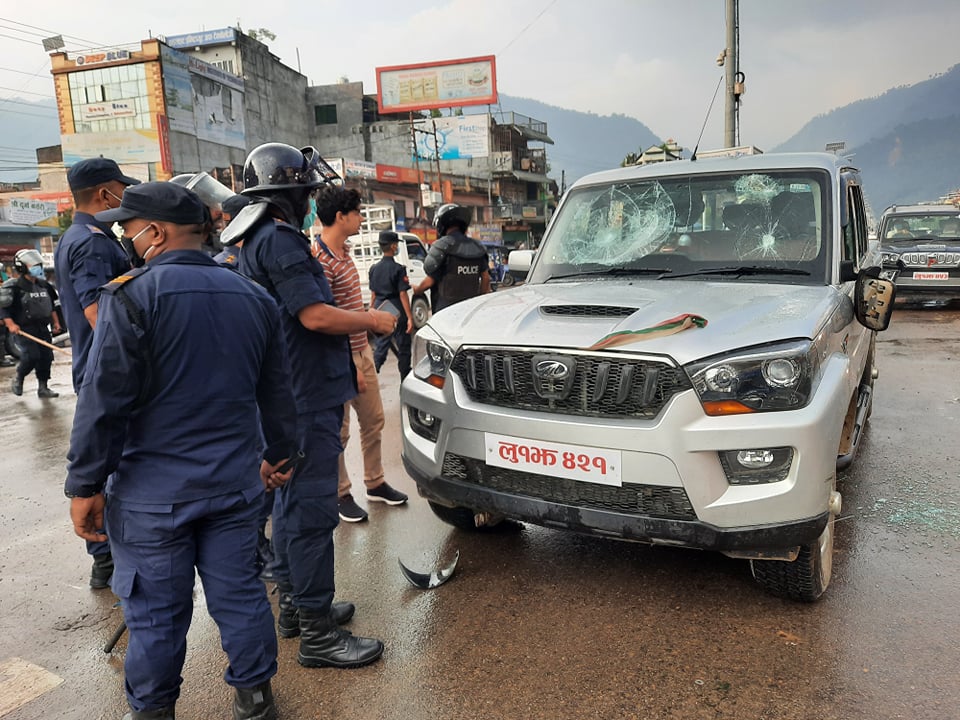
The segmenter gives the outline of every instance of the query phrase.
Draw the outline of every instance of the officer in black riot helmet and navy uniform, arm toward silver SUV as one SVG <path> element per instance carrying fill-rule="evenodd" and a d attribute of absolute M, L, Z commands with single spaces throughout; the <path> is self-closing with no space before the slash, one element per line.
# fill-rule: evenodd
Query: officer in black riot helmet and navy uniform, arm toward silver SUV
<path fill-rule="evenodd" d="M 308 449 L 295 482 L 277 493 L 273 513 L 274 571 L 280 589 L 278 629 L 300 636 L 297 660 L 306 667 L 360 667 L 383 643 L 338 627 L 353 614 L 334 603 L 333 530 L 343 405 L 357 393 L 347 335 L 393 332 L 392 315 L 347 311 L 333 304 L 320 263 L 302 233 L 310 195 L 336 178 L 315 148 L 267 143 L 247 157 L 243 194 L 253 202 L 221 236 L 243 242 L 240 271 L 263 285 L 281 309 L 296 397 L 300 445 Z"/>

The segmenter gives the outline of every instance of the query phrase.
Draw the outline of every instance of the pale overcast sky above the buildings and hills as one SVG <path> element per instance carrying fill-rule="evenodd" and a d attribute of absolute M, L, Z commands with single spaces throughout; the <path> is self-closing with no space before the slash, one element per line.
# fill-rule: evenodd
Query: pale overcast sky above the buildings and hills
<path fill-rule="evenodd" d="M 271 50 L 312 84 L 346 77 L 375 93 L 378 66 L 492 54 L 502 93 L 629 115 L 688 149 L 725 44 L 724 0 L 48 0 L 0 15 L 3 98 L 52 97 L 47 35 L 70 52 L 239 23 L 275 33 Z M 958 62 L 957 0 L 741 0 L 741 142 L 769 149 L 815 115 Z M 722 144 L 721 91 L 701 148 Z"/>

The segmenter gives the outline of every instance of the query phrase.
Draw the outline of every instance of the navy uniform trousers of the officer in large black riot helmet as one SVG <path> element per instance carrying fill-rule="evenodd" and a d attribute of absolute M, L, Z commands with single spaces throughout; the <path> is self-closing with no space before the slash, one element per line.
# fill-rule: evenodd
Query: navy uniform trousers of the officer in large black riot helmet
<path fill-rule="evenodd" d="M 333 531 L 337 506 L 338 462 L 343 446 L 343 406 L 297 416 L 300 447 L 306 458 L 290 481 L 274 491 L 274 576 L 288 578 L 293 603 L 328 612 L 333 603 Z"/>

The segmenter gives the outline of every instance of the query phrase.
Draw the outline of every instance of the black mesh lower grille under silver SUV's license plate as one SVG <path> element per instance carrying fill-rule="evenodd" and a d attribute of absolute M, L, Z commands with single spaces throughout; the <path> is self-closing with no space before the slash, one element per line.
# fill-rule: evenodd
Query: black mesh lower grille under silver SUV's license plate
<path fill-rule="evenodd" d="M 697 519 L 683 488 L 627 483 L 622 487 L 595 485 L 494 467 L 454 453 L 444 456 L 442 473 L 444 477 L 491 490 L 574 507 L 675 520 Z"/>

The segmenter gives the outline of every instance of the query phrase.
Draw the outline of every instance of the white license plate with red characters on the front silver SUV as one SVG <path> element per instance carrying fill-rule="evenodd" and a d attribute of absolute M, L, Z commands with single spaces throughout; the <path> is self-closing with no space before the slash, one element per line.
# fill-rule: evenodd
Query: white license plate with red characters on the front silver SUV
<path fill-rule="evenodd" d="M 487 465 L 620 487 L 620 451 L 484 433 Z"/>

